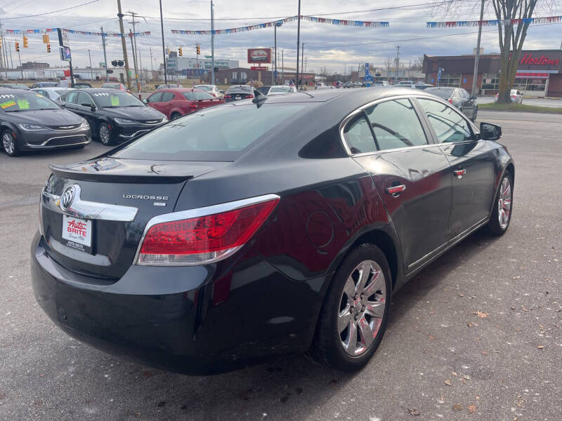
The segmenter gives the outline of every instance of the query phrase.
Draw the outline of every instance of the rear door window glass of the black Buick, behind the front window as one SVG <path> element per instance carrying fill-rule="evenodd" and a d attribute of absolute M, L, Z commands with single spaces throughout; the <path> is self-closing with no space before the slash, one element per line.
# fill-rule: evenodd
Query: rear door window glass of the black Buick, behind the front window
<path fill-rule="evenodd" d="M 427 145 L 410 100 L 380 102 L 366 110 L 379 150 Z"/>

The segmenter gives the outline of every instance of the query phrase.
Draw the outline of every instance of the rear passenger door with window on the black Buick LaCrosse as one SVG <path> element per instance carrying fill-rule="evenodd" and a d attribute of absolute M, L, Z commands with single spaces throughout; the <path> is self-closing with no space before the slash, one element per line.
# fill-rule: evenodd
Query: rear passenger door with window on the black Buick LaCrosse
<path fill-rule="evenodd" d="M 355 161 L 372 174 L 411 272 L 447 239 L 447 159 L 428 142 L 431 135 L 407 98 L 365 109 L 346 126 L 344 137 Z"/>

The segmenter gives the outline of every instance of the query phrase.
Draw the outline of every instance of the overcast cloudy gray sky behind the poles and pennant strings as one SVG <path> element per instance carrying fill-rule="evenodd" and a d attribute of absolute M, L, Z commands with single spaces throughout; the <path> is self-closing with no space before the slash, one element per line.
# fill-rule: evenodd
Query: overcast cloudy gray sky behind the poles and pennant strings
<path fill-rule="evenodd" d="M 48 15 L 26 17 L 58 9 L 84 4 L 88 0 L 66 2 L 52 0 L 0 0 L 0 16 L 4 29 L 45 29 L 65 27 L 83 31 L 119 32 L 117 0 L 98 0 L 70 11 Z M 301 22 L 301 42 L 305 43 L 306 70 L 326 67 L 329 72 L 347 72 L 356 69 L 359 63 L 370 62 L 383 65 L 384 59 L 396 57 L 400 46 L 401 62 L 416 60 L 424 53 L 428 55 L 470 54 L 476 46 L 475 27 L 455 29 L 426 29 L 425 22 L 438 20 L 478 20 L 479 1 L 464 0 L 457 11 L 446 13 L 443 8 L 428 6 L 431 0 L 302 0 L 301 15 L 347 20 L 382 20 L 390 22 L 387 28 L 339 27 L 322 23 Z M 535 16 L 562 15 L 562 1 L 556 10 L 542 8 Z M 411 5 L 411 6 L 410 6 Z M 183 46 L 184 56 L 195 57 L 195 44 L 200 43 L 202 55 L 211 54 L 210 36 L 171 34 L 170 29 L 210 29 L 210 1 L 207 0 L 162 0 L 164 9 L 164 37 L 166 46 L 177 50 Z M 268 22 L 297 14 L 297 0 L 216 0 L 215 29 L 226 29 Z M 402 8 L 396 8 L 401 6 Z M 150 50 L 155 69 L 162 62 L 159 3 L 157 0 L 122 0 L 122 8 L 145 16 L 137 31 L 151 31 L 152 36 L 138 37 L 143 68 L 150 69 Z M 377 8 L 379 10 L 373 11 Z M 381 8 L 389 8 L 380 10 Z M 18 18 L 22 16 L 22 18 Z M 14 19 L 16 18 L 16 19 Z M 495 19 L 491 6 L 487 7 L 485 19 Z M 125 32 L 129 32 L 130 18 L 125 18 Z M 289 22 L 277 29 L 277 48 L 285 51 L 285 65 L 293 66 L 296 48 L 296 22 Z M 498 51 L 497 29 L 485 28 L 482 46 L 485 53 Z M 469 34 L 466 34 L 469 32 Z M 457 36 L 453 36 L 459 34 Z M 446 37 L 429 38 L 450 35 Z M 51 34 L 51 54 L 46 53 L 41 35 L 30 35 L 30 48 L 21 48 L 21 60 L 48 62 L 51 66 L 63 65 L 58 60 L 58 40 Z M 99 36 L 70 35 L 73 65 L 89 65 L 88 50 L 94 67 L 103 62 L 101 38 Z M 14 66 L 18 60 L 14 41 L 21 36 L 8 34 Z M 562 24 L 530 27 L 525 44 L 527 49 L 557 49 L 561 46 Z M 273 46 L 273 28 L 257 29 L 238 34 L 215 36 L 217 59 L 240 60 L 246 67 L 246 48 Z M 127 48 L 130 52 L 129 39 Z M 107 38 L 107 61 L 122 58 L 119 38 Z M 131 55 L 132 58 L 132 55 Z M 131 60 L 132 67 L 132 60 Z"/>

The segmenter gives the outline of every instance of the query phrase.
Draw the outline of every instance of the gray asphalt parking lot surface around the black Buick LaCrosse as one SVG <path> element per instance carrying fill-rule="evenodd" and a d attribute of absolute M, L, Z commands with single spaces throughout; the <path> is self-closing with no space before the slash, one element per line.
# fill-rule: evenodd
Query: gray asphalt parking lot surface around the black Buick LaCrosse
<path fill-rule="evenodd" d="M 72 340 L 32 295 L 38 195 L 48 163 L 106 148 L 0 152 L 0 420 L 560 420 L 562 119 L 478 117 L 502 126 L 516 161 L 511 227 L 473 234 L 400 290 L 356 375 L 296 355 L 188 377 Z"/>

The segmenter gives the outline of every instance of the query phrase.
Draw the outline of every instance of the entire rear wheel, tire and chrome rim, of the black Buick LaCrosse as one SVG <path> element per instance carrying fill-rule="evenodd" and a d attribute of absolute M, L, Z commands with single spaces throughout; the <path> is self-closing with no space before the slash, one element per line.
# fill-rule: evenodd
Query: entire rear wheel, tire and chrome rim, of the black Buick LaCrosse
<path fill-rule="evenodd" d="M 328 289 L 312 356 L 349 373 L 363 368 L 386 330 L 391 285 L 391 272 L 380 248 L 362 244 L 353 249 Z"/>

